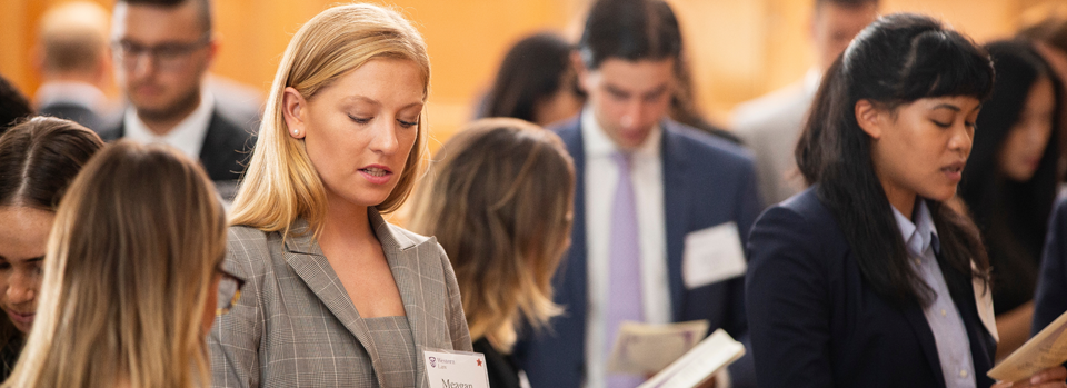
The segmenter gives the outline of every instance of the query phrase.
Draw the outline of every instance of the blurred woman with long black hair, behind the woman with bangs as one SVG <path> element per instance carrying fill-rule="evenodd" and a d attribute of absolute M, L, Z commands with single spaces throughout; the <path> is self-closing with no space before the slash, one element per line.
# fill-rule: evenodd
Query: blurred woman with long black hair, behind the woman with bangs
<path fill-rule="evenodd" d="M 993 267 L 997 358 L 1029 338 L 1041 249 L 1059 187 L 1063 87 L 1023 40 L 985 44 L 996 68 L 993 97 L 983 103 L 974 148 L 960 181 Z"/>

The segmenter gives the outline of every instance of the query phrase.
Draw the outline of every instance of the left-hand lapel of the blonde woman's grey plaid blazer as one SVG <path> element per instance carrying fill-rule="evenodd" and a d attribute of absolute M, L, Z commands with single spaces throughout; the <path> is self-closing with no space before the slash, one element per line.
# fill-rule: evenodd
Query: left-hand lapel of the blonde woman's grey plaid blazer
<path fill-rule="evenodd" d="M 367 322 L 359 319 L 359 311 L 356 310 L 356 305 L 352 305 L 351 298 L 348 297 L 348 292 L 341 286 L 337 272 L 333 271 L 333 267 L 322 255 L 319 243 L 311 238 L 308 222 L 299 219 L 293 223 L 292 230 L 297 233 L 303 233 L 299 236 L 290 235 L 285 240 L 286 262 L 308 285 L 308 288 L 315 292 L 330 312 L 345 325 L 345 328 L 362 344 L 363 349 L 370 356 L 375 370 L 383 370 L 381 357 L 378 356 L 378 347 L 375 346 Z M 381 376 L 378 376 L 378 384 L 383 384 Z"/>

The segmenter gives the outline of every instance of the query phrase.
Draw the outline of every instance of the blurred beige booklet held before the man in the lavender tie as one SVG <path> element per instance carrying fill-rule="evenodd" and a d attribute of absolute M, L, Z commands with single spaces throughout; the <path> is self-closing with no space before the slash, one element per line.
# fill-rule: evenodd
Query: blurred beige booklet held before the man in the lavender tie
<path fill-rule="evenodd" d="M 697 346 L 706 332 L 707 320 L 664 325 L 622 322 L 608 358 L 608 372 L 640 376 L 659 372 Z"/>

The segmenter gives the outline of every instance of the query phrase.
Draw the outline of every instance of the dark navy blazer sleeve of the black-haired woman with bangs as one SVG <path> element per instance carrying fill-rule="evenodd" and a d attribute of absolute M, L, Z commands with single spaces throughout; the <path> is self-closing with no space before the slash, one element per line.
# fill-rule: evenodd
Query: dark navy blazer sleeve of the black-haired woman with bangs
<path fill-rule="evenodd" d="M 774 207 L 749 237 L 746 305 L 759 387 L 834 386 L 827 271 L 809 246 L 819 239 L 812 229 Z"/>

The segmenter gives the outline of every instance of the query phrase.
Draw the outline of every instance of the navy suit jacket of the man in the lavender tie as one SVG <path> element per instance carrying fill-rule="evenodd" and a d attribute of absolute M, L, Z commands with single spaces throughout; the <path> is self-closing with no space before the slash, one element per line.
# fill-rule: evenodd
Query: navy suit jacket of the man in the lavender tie
<path fill-rule="evenodd" d="M 737 222 L 741 238 L 759 213 L 751 158 L 740 147 L 715 139 L 684 125 L 664 120 L 660 155 L 664 168 L 664 210 L 667 228 L 667 273 L 674 321 L 707 319 L 711 330 L 722 328 L 747 341 L 744 280 L 738 277 L 696 289 L 682 282 L 681 259 L 686 235 L 724 222 Z M 535 388 L 577 388 L 585 374 L 586 310 L 586 196 L 585 148 L 580 120 L 557 130 L 575 161 L 571 246 L 554 279 L 555 300 L 566 308 L 541 334 L 528 332 L 515 349 L 516 360 Z M 744 243 L 744 240 L 741 241 Z M 754 387 L 750 357 L 730 367 L 735 387 Z"/>

